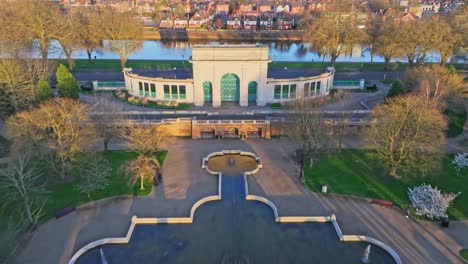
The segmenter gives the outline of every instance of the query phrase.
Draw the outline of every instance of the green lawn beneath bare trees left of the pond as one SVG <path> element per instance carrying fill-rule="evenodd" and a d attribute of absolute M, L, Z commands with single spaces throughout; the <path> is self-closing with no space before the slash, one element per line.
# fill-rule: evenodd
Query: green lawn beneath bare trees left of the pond
<path fill-rule="evenodd" d="M 108 151 L 103 155 L 111 163 L 111 184 L 106 189 L 91 194 L 91 198 L 88 198 L 86 194 L 78 192 L 75 189 L 74 182 L 59 183 L 50 186 L 49 189 L 51 194 L 44 208 L 44 220 L 53 217 L 55 212 L 65 207 L 78 206 L 105 197 L 118 195 L 144 196 L 151 192 L 153 185 L 151 184 L 150 180 L 145 182 L 145 190 L 140 191 L 139 183 L 136 185 L 129 184 L 128 177 L 126 177 L 123 171 L 124 164 L 137 156 L 135 153 L 125 151 Z M 157 158 L 161 165 L 163 164 L 166 155 L 167 151 L 161 151 L 158 153 Z"/>

